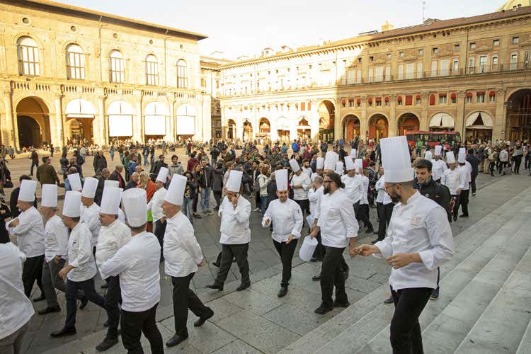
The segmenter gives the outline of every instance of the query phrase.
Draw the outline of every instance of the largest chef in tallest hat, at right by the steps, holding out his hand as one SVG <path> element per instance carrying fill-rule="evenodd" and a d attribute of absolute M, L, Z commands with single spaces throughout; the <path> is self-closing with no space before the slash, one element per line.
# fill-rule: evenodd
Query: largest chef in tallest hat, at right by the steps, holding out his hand
<path fill-rule="evenodd" d="M 437 287 L 437 267 L 452 258 L 452 231 L 445 209 L 413 189 L 406 137 L 380 139 L 380 147 L 385 188 L 397 204 L 387 237 L 355 251 L 384 258 L 393 267 L 389 276 L 395 306 L 391 321 L 393 352 L 423 353 L 418 317 Z"/>

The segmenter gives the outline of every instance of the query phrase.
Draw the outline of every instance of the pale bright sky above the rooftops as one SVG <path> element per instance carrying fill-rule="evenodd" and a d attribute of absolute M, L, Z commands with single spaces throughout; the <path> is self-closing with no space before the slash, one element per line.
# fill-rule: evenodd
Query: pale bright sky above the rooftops
<path fill-rule="evenodd" d="M 422 23 L 421 0 L 55 0 L 115 15 L 191 30 L 209 38 L 202 55 L 259 55 L 265 47 L 302 47 L 340 40 L 389 21 Z M 425 18 L 458 18 L 496 11 L 503 0 L 426 0 Z"/>

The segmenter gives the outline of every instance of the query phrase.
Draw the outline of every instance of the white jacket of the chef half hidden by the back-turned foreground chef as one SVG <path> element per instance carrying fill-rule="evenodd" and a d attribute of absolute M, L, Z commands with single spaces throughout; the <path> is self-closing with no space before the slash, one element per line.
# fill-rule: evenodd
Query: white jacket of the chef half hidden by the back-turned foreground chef
<path fill-rule="evenodd" d="M 105 278 L 101 272 L 101 265 L 113 258 L 116 252 L 129 241 L 131 241 L 131 230 L 120 220 L 115 219 L 109 226 L 101 225 L 98 245 L 96 245 L 96 265 L 98 265 L 102 279 Z"/>

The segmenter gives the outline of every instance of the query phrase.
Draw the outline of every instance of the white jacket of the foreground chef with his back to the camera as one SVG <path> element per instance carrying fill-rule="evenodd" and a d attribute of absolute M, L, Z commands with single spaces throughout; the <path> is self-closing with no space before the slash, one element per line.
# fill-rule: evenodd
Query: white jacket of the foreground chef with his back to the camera
<path fill-rule="evenodd" d="M 142 312 L 161 299 L 161 245 L 151 232 L 141 232 L 101 265 L 105 276 L 120 275 L 122 310 Z"/>

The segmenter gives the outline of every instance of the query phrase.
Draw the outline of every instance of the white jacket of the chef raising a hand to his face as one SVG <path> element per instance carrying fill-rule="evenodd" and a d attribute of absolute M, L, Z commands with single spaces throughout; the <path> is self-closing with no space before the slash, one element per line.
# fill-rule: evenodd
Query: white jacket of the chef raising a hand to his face
<path fill-rule="evenodd" d="M 218 215 L 221 217 L 220 244 L 248 244 L 251 242 L 251 229 L 249 217 L 251 216 L 251 203 L 240 195 L 236 210 L 232 207 L 229 198 L 223 198 L 219 206 Z"/>

